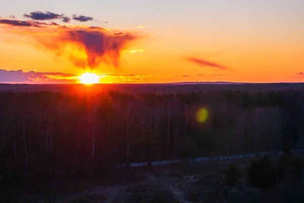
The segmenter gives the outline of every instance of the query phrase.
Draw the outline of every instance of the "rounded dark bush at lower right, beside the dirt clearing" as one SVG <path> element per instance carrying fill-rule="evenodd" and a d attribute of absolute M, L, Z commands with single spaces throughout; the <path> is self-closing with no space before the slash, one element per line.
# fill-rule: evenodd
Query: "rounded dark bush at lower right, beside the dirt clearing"
<path fill-rule="evenodd" d="M 248 167 L 247 182 L 259 188 L 269 188 L 276 184 L 276 173 L 267 156 L 252 160 Z"/>

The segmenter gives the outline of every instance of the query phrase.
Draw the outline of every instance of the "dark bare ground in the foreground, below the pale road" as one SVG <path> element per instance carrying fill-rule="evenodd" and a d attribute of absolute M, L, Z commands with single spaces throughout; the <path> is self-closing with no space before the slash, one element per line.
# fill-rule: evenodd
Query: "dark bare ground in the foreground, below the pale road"
<path fill-rule="evenodd" d="M 239 163 L 239 169 L 247 163 Z M 108 202 L 108 203 L 187 203 L 187 202 L 304 202 L 295 196 L 302 194 L 302 185 L 277 187 L 262 191 L 246 184 L 246 176 L 236 185 L 227 186 L 223 175 L 224 164 L 191 165 L 131 169 L 107 179 L 78 181 L 56 185 L 47 195 L 39 190 L 3 202 Z M 72 188 L 73 187 L 73 188 Z M 79 189 L 81 188 L 81 189 Z M 70 191 L 69 191 L 70 189 Z M 69 191 L 69 192 L 67 192 Z M 287 192 L 286 192 L 287 191 Z M 40 196 L 39 196 L 40 195 Z M 25 198 L 26 197 L 26 198 Z M 294 200 L 292 200 L 294 197 Z"/>

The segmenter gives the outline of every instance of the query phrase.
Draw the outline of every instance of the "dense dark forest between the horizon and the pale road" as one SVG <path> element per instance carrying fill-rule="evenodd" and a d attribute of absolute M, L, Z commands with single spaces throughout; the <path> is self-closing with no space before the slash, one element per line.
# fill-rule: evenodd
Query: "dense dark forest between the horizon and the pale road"
<path fill-rule="evenodd" d="M 303 96 L 298 90 L 2 92 L 0 180 L 302 148 Z"/>

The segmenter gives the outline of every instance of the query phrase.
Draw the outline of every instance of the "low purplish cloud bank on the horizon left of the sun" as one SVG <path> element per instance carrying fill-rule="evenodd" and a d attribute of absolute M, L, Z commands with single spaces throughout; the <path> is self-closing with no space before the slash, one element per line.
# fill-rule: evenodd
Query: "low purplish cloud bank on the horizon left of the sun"
<path fill-rule="evenodd" d="M 23 72 L 7 71 L 0 69 L 0 82 L 59 82 L 59 81 L 78 81 L 77 74 L 68 73 L 42 73 L 42 72 Z"/>

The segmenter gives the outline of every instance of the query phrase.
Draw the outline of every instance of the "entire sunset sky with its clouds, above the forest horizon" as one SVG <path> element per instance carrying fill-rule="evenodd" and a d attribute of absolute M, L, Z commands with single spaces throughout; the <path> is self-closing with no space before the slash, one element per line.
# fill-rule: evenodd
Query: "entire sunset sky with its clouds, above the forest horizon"
<path fill-rule="evenodd" d="M 0 82 L 303 82 L 302 0 L 12 0 Z M 49 13 L 47 13 L 49 12 Z M 102 29 L 103 28 L 103 29 Z"/>

